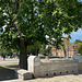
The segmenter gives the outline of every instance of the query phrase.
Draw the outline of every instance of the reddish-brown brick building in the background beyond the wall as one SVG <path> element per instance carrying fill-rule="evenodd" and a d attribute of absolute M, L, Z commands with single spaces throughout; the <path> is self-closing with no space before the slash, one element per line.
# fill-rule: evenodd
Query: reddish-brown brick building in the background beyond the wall
<path fill-rule="evenodd" d="M 54 47 L 51 47 L 50 52 L 52 56 L 57 56 L 57 57 L 65 57 L 65 52 L 66 52 L 66 57 L 70 57 L 73 55 L 78 54 L 78 45 L 74 43 L 70 43 L 68 37 L 63 37 L 63 45 L 65 45 L 65 49 L 61 46 L 61 49 L 56 49 Z"/>

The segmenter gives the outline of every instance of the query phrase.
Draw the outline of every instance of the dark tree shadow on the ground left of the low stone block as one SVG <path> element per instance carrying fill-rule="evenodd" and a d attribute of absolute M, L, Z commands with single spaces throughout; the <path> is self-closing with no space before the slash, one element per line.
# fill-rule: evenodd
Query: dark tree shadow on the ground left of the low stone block
<path fill-rule="evenodd" d="M 14 70 L 0 67 L 0 81 L 13 80 L 13 79 L 17 79 L 15 77 L 15 71 Z"/>

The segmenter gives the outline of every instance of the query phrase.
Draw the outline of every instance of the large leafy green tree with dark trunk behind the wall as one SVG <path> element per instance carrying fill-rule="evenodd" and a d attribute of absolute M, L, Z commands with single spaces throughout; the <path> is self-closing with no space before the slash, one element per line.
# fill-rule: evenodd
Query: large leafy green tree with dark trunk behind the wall
<path fill-rule="evenodd" d="M 27 46 L 56 39 L 82 25 L 82 3 L 78 0 L 0 0 L 2 47 L 20 50 L 20 68 L 27 69 Z M 50 43 L 51 44 L 51 43 Z"/>

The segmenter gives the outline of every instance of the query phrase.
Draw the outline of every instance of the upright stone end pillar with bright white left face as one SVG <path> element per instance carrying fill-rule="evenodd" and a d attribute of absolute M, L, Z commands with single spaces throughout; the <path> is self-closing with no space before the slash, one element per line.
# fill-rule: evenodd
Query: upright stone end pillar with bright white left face
<path fill-rule="evenodd" d="M 28 57 L 28 71 L 33 72 L 34 77 L 39 77 L 40 71 L 40 59 L 37 56 Z"/>

